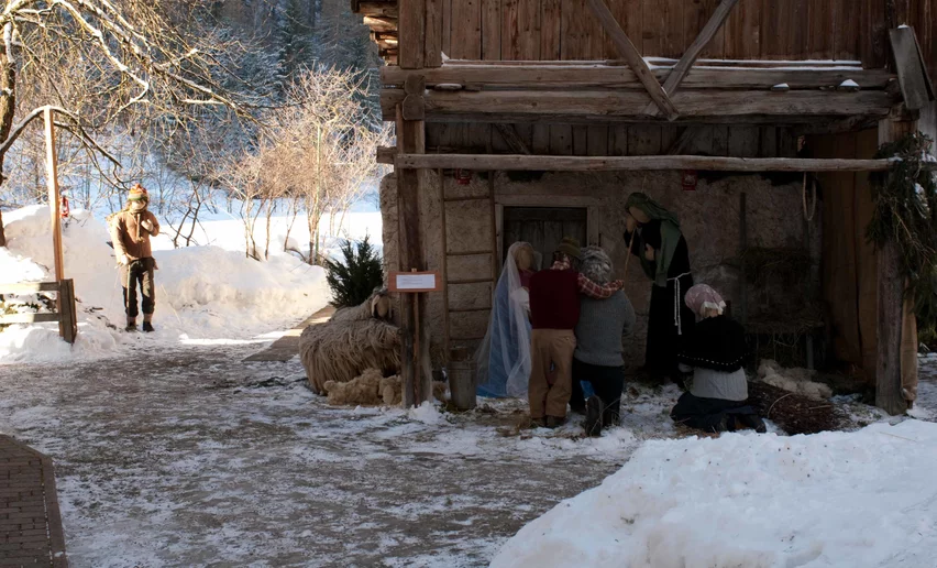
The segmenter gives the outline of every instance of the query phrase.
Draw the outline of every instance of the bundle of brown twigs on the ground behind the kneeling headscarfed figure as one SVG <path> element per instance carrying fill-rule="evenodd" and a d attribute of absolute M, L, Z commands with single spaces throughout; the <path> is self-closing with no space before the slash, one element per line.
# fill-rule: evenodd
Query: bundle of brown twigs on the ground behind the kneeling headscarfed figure
<path fill-rule="evenodd" d="M 819 402 L 762 382 L 750 382 L 748 400 L 761 416 L 787 434 L 816 434 L 842 429 L 846 415 L 828 401 Z"/>

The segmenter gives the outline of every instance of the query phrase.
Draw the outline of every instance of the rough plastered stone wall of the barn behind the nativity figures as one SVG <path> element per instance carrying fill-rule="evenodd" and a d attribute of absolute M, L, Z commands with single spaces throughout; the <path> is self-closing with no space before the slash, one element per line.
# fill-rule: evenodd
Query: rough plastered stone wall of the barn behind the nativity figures
<path fill-rule="evenodd" d="M 450 176 L 442 178 L 447 199 L 460 196 L 484 195 L 489 182 L 475 175 L 468 186 L 458 186 Z M 385 184 L 387 185 L 387 184 Z M 396 256 L 396 188 L 382 186 L 382 210 L 385 216 L 384 247 L 388 260 Z M 393 184 L 390 184 L 393 186 Z M 686 192 L 679 172 L 649 173 L 547 173 L 543 175 L 495 175 L 495 203 L 523 206 L 555 206 L 556 198 L 581 198 L 593 203 L 597 212 L 597 241 L 616 264 L 617 277 L 625 270 L 627 243 L 625 229 L 625 199 L 631 192 L 646 193 L 664 207 L 677 214 L 690 245 L 691 263 L 696 282 L 705 282 L 718 290 L 738 309 L 741 295 L 739 271 L 739 195 L 747 194 L 747 223 L 749 247 L 802 248 L 809 242 L 814 259 L 819 256 L 819 219 L 806 229 L 802 204 L 802 182 L 796 176 L 763 177 L 734 175 L 702 178 L 695 192 Z M 394 198 L 389 195 L 393 192 Z M 473 193 L 474 192 L 474 193 Z M 386 195 L 385 195 L 386 194 Z M 437 172 L 425 173 L 421 178 L 421 215 L 423 248 L 429 270 L 443 270 L 445 249 L 453 251 L 483 250 L 490 242 L 493 207 L 489 201 L 443 201 L 440 177 Z M 528 203 L 525 203 L 525 200 Z M 386 205 L 385 205 L 386 203 Z M 447 227 L 442 223 L 445 206 Z M 807 237 L 807 234 L 809 237 Z M 505 243 L 505 247 L 510 243 Z M 393 262 L 393 261 L 392 261 Z M 489 276 L 490 256 L 449 256 L 449 280 L 470 280 Z M 497 263 L 499 264 L 499 263 Z M 458 272 L 458 277 L 453 277 Z M 758 292 L 748 286 L 749 315 L 758 312 Z M 809 280 L 809 290 L 773 290 L 775 304 L 791 305 L 797 309 L 805 298 L 818 296 L 818 276 Z M 628 342 L 628 360 L 633 365 L 643 361 L 647 314 L 651 282 L 640 263 L 632 259 L 627 274 L 626 293 L 638 313 L 636 335 Z M 448 292 L 450 309 L 490 305 L 490 285 L 453 285 Z M 482 297 L 483 295 L 488 297 Z M 432 342 L 442 347 L 445 337 L 445 297 L 432 294 L 428 298 Z M 466 335 L 475 336 L 484 327 L 487 313 L 474 312 L 451 315 L 450 331 L 458 336 L 462 328 L 471 327 Z M 477 321 L 476 321 L 477 320 Z"/>

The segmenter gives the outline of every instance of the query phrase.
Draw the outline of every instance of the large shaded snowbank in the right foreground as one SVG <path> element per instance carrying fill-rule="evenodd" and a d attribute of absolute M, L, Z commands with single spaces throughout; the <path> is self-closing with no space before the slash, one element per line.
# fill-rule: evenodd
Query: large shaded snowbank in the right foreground
<path fill-rule="evenodd" d="M 508 540 L 505 566 L 930 566 L 937 424 L 648 441 Z"/>

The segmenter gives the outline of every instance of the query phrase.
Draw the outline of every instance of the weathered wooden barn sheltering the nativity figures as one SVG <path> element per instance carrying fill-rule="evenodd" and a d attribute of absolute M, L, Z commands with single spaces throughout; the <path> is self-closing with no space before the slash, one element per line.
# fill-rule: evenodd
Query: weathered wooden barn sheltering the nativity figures
<path fill-rule="evenodd" d="M 477 345 L 517 240 L 545 258 L 563 236 L 599 244 L 620 275 L 625 198 L 643 189 L 677 214 L 695 280 L 724 293 L 760 354 L 836 365 L 890 412 L 907 407 L 917 332 L 896 253 L 864 237 L 868 178 L 889 167 L 872 160 L 881 143 L 937 133 L 937 0 L 352 8 L 387 64 L 381 105 L 397 128 L 377 155 L 395 166 L 386 260 L 443 283 L 403 296 L 408 337 L 422 338 L 406 361 Z M 650 288 L 632 266 L 635 365 Z M 423 367 L 405 369 L 417 398 Z"/>

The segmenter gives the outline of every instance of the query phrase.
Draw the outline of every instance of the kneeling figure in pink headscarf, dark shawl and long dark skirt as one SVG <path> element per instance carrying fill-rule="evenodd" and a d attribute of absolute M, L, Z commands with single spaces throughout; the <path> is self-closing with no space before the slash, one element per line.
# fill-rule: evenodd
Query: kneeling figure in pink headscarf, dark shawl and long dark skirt
<path fill-rule="evenodd" d="M 686 292 L 686 306 L 696 314 L 698 321 L 677 353 L 677 361 L 681 371 L 693 372 L 693 379 L 670 417 L 705 432 L 734 432 L 746 427 L 765 432 L 764 422 L 748 404 L 745 330 L 723 315 L 726 303 L 706 284 L 697 284 Z"/>

